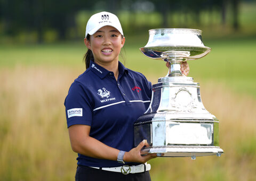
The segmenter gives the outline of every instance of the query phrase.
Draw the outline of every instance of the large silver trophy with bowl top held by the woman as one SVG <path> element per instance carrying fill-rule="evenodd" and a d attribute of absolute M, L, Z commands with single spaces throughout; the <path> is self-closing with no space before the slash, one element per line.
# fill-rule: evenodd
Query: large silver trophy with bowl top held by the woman
<path fill-rule="evenodd" d="M 134 123 L 134 145 L 146 139 L 141 154 L 158 157 L 221 156 L 219 120 L 202 103 L 199 83 L 180 71 L 182 62 L 207 55 L 211 48 L 195 29 L 153 29 L 141 52 L 170 63 L 169 72 L 153 85 L 150 106 Z"/>

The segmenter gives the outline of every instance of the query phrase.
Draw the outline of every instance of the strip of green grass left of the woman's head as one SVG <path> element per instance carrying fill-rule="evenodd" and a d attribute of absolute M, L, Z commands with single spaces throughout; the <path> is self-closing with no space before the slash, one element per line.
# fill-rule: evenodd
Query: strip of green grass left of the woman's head
<path fill-rule="evenodd" d="M 58 65 L 77 66 L 82 63 L 85 47 L 81 43 L 44 45 L 1 45 L 0 66 Z"/>

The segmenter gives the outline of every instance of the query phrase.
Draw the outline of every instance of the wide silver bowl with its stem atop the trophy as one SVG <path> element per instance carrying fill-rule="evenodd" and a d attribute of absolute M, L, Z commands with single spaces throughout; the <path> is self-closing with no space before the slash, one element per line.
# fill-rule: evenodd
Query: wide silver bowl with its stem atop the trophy
<path fill-rule="evenodd" d="M 169 62 L 169 76 L 181 76 L 182 62 L 202 58 L 211 48 L 204 46 L 201 30 L 168 28 L 149 30 L 148 43 L 140 50 L 149 58 Z"/>

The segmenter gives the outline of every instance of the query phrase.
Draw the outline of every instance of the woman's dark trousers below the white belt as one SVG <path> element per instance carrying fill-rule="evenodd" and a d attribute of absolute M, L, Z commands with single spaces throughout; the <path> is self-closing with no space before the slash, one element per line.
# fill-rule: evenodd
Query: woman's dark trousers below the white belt
<path fill-rule="evenodd" d="M 75 178 L 76 181 L 151 181 L 149 171 L 124 175 L 114 171 L 106 171 L 80 165 L 76 169 Z"/>

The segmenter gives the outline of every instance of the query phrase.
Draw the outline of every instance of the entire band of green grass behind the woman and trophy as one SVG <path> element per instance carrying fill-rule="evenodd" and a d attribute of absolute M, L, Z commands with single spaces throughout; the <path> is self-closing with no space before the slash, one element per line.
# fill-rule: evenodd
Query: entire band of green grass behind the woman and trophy
<path fill-rule="evenodd" d="M 135 41 L 134 37 L 129 36 L 126 39 L 122 62 L 128 68 L 145 74 L 153 83 L 157 81 L 155 77 L 167 74 L 164 61 L 150 59 L 140 53 L 139 48 L 146 45 L 147 39 L 138 38 Z M 189 76 L 194 77 L 195 82 L 215 80 L 239 93 L 256 97 L 256 38 L 205 40 L 204 44 L 211 47 L 212 51 L 201 59 L 189 61 Z M 0 66 L 79 67 L 82 72 L 85 70 L 82 62 L 85 51 L 82 42 L 0 46 Z"/>

